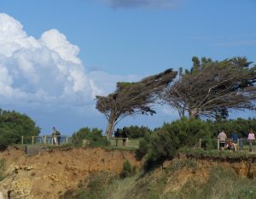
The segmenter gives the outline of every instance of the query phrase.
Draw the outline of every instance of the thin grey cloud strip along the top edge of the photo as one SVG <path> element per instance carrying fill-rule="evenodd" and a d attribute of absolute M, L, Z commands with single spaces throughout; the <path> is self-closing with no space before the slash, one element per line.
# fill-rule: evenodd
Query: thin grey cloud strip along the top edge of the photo
<path fill-rule="evenodd" d="M 110 7 L 117 8 L 148 8 L 148 9 L 173 9 L 181 0 L 99 0 Z"/>

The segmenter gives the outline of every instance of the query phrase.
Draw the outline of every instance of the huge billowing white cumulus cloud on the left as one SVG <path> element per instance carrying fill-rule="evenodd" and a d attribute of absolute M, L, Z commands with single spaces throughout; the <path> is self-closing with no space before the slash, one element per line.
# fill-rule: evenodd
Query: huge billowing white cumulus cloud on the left
<path fill-rule="evenodd" d="M 79 47 L 53 29 L 29 37 L 19 21 L 0 14 L 0 97 L 3 103 L 83 105 L 101 90 L 79 59 Z"/>

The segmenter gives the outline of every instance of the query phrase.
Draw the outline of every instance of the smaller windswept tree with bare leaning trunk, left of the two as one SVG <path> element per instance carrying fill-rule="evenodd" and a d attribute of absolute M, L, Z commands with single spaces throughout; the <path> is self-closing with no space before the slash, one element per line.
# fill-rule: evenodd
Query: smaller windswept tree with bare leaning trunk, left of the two
<path fill-rule="evenodd" d="M 113 128 L 124 117 L 150 114 L 160 91 L 176 77 L 177 72 L 168 69 L 160 74 L 146 77 L 140 82 L 117 82 L 117 88 L 108 96 L 96 96 L 96 109 L 108 120 L 106 135 L 111 137 Z"/>

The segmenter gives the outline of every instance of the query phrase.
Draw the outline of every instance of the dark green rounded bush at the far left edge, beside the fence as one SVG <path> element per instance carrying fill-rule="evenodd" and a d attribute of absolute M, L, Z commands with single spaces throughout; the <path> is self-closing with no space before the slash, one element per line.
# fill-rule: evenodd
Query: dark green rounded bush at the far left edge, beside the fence
<path fill-rule="evenodd" d="M 15 111 L 0 110 L 0 147 L 20 144 L 21 136 L 38 136 L 40 128 L 32 119 Z"/>

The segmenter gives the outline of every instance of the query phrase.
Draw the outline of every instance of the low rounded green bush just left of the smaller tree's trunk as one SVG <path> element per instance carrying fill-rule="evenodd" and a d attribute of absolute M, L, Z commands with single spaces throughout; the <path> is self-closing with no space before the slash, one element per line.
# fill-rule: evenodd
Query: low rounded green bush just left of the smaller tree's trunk
<path fill-rule="evenodd" d="M 83 139 L 89 140 L 90 146 L 110 145 L 108 139 L 102 135 L 102 130 L 98 128 L 81 128 L 72 135 L 73 145 L 81 146 Z"/>

